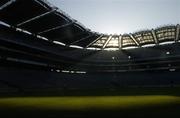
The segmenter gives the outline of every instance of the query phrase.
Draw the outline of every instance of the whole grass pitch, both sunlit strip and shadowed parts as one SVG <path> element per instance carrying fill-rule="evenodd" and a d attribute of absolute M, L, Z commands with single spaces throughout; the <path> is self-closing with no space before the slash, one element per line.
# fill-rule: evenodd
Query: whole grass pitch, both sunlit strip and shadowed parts
<path fill-rule="evenodd" d="M 127 91 L 127 95 L 1 97 L 0 114 L 5 118 L 180 117 L 179 89 Z"/>

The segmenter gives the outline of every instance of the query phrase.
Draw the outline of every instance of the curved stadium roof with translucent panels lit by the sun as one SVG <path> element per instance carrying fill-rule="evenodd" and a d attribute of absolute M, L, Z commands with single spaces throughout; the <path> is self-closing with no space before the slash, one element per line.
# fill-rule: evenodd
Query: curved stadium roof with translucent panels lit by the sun
<path fill-rule="evenodd" d="M 76 48 L 119 50 L 174 43 L 180 39 L 179 25 L 132 34 L 93 32 L 46 0 L 1 0 L 0 21 L 49 42 Z"/>

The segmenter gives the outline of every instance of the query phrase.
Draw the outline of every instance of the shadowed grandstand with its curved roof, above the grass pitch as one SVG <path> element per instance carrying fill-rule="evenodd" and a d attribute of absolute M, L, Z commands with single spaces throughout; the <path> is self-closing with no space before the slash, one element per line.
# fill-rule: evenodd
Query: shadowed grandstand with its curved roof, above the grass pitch
<path fill-rule="evenodd" d="M 179 24 L 107 35 L 91 31 L 46 0 L 1 0 L 0 93 L 71 96 L 114 95 L 125 88 L 178 90 L 179 41 Z"/>

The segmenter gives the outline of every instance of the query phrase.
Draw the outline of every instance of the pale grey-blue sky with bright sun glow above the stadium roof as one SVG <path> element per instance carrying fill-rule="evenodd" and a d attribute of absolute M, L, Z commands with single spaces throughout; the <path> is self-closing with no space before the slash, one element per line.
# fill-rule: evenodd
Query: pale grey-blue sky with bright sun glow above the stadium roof
<path fill-rule="evenodd" d="M 180 23 L 180 0 L 48 0 L 93 31 L 130 33 Z"/>

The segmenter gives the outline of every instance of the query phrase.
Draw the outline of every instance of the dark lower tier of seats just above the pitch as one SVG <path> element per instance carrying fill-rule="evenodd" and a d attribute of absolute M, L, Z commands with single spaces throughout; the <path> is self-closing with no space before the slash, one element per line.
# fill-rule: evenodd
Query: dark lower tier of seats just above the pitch
<path fill-rule="evenodd" d="M 26 89 L 94 89 L 146 86 L 178 86 L 179 72 L 124 72 L 69 74 L 1 68 L 0 82 Z M 0 86 L 0 88 L 3 86 Z"/>

